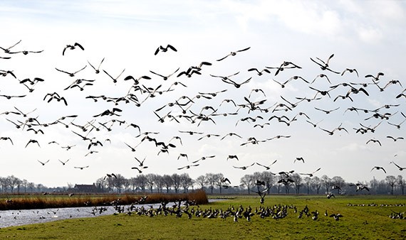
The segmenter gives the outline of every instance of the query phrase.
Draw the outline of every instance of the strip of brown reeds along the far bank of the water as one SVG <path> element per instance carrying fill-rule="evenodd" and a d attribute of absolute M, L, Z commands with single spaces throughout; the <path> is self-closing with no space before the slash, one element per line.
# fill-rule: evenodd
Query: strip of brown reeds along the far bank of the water
<path fill-rule="evenodd" d="M 0 198 L 0 210 L 104 206 L 118 199 L 120 199 L 119 204 L 132 204 L 142 196 L 147 196 L 145 202 L 142 202 L 145 204 L 177 200 L 195 200 L 197 204 L 207 204 L 206 193 L 201 190 L 182 194 L 150 195 L 73 195 L 71 197 L 68 195 L 11 195 Z"/>

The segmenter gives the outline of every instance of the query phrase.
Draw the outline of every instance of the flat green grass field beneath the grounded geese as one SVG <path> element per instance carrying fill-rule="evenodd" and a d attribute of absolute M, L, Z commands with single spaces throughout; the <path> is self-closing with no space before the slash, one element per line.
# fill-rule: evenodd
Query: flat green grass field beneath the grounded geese
<path fill-rule="evenodd" d="M 221 196 L 219 196 L 221 197 Z M 212 197 L 216 198 L 216 197 Z M 189 209 L 227 210 L 239 205 L 260 207 L 259 197 L 234 196 Z M 403 196 L 267 196 L 264 207 L 288 205 L 286 217 L 274 219 L 255 214 L 251 221 L 174 215 L 147 217 L 137 214 L 68 219 L 0 229 L 0 239 L 406 239 L 406 219 L 392 219 L 393 212 L 406 212 Z M 168 204 L 169 206 L 170 204 Z M 319 212 L 317 220 L 298 218 L 308 206 Z M 297 212 L 294 212 L 296 207 Z M 338 221 L 324 213 L 342 214 Z M 1 219 L 0 219 L 1 221 Z"/>

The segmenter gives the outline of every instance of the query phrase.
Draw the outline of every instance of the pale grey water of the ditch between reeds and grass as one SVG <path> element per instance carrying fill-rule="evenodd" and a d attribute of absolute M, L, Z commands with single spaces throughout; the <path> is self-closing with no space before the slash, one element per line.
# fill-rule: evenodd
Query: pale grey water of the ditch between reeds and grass
<path fill-rule="evenodd" d="M 215 202 L 217 200 L 209 200 Z M 135 204 L 135 207 L 157 208 L 160 204 Z M 168 204 L 170 206 L 170 204 Z M 125 206 L 125 209 L 130 205 Z M 111 215 L 116 211 L 113 206 L 107 206 L 104 212 L 93 214 L 95 207 L 65 207 L 65 208 L 47 208 L 47 209 L 29 209 L 29 210 L 5 210 L 0 211 L 0 228 L 21 226 L 26 224 L 38 224 L 43 222 L 52 222 L 62 219 L 73 219 L 80 217 L 98 217 Z M 99 207 L 98 207 L 99 209 Z"/>

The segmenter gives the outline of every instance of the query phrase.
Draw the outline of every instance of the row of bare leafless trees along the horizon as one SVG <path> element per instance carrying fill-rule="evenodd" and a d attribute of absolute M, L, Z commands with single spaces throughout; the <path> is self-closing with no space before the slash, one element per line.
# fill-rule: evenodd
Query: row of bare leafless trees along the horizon
<path fill-rule="evenodd" d="M 157 175 L 154 173 L 140 174 L 136 177 L 125 178 L 123 175 L 103 176 L 95 181 L 98 192 L 189 192 L 194 189 L 203 189 L 212 194 L 251 194 L 261 188 L 268 194 L 355 194 L 358 192 L 354 182 L 345 182 L 340 176 L 333 178 L 322 175 L 302 178 L 298 173 L 288 173 L 292 181 L 281 181 L 286 178 L 282 175 L 274 175 L 269 171 L 246 174 L 238 183 L 227 181 L 222 173 L 206 173 L 196 179 L 190 178 L 188 173 L 172 175 Z M 257 185 L 262 182 L 264 185 Z M 369 182 L 361 182 L 368 185 L 368 190 L 363 193 L 377 195 L 404 195 L 405 179 L 402 175 L 387 175 L 384 180 L 373 178 Z M 334 187 L 333 187 L 334 186 Z M 14 175 L 0 177 L 0 192 L 26 193 L 26 192 L 68 192 L 73 190 L 73 185 L 68 183 L 64 187 L 46 187 L 41 183 L 21 180 Z M 360 192 L 361 193 L 361 192 Z"/>

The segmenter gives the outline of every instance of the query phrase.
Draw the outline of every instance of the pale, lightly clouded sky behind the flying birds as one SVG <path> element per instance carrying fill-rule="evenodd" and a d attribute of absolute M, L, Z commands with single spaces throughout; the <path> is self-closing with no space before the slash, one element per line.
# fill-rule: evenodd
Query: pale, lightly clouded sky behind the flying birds
<path fill-rule="evenodd" d="M 405 120 L 406 99 L 396 98 L 406 86 L 402 71 L 402 56 L 406 55 L 405 10 L 403 1 L 1 1 L 0 22 L 4 24 L 0 47 L 10 48 L 21 40 L 10 48 L 11 52 L 43 51 L 24 55 L 0 50 L 0 57 L 11 57 L 0 58 L 0 70 L 12 71 L 16 76 L 0 77 L 0 94 L 26 95 L 0 98 L 0 113 L 3 113 L 0 115 L 0 137 L 9 137 L 13 141 L 13 144 L 9 140 L 0 141 L 0 176 L 15 175 L 47 187 L 91 184 L 107 173 L 120 173 L 125 178 L 137 176 L 137 170 L 132 169 L 138 166 L 135 158 L 145 158 L 148 168 L 142 170 L 144 174 L 189 173 L 192 178 L 197 178 L 206 173 L 223 173 L 231 180 L 231 185 L 239 185 L 240 178 L 246 174 L 265 170 L 256 164 L 246 170 L 235 167 L 252 163 L 270 165 L 274 160 L 277 161 L 271 166 L 272 173 L 289 170 L 312 173 L 321 168 L 316 176 L 333 178 L 338 175 L 346 182 L 383 180 L 386 175 L 402 175 L 390 162 L 406 165 L 406 140 L 393 141 L 387 136 L 405 137 L 406 126 L 401 123 Z M 78 47 L 67 49 L 63 55 L 66 45 L 74 43 L 82 45 L 84 50 Z M 160 45 L 166 47 L 168 44 L 177 51 L 160 51 L 155 55 Z M 229 55 L 238 50 L 244 51 Z M 328 65 L 338 74 L 322 70 L 311 60 L 326 62 L 332 54 Z M 227 58 L 220 60 L 225 56 Z M 89 62 L 97 68 L 102 60 L 100 73 L 96 74 Z M 285 61 L 301 68 L 288 68 L 276 75 L 277 68 Z M 203 65 L 200 75 L 177 77 L 200 62 L 212 65 Z M 56 70 L 76 72 L 83 67 L 85 69 L 74 77 Z M 263 75 L 248 71 L 266 67 L 274 68 L 269 68 L 270 73 L 263 72 Z M 347 68 L 356 69 L 359 77 L 349 71 L 342 75 Z M 175 74 L 163 80 L 150 71 L 160 75 Z M 117 77 L 120 72 L 123 74 L 113 82 L 105 72 L 112 77 Z M 236 72 L 239 73 L 234 75 Z M 383 88 L 391 80 L 398 80 L 400 84 L 388 84 L 380 91 L 371 77 L 365 77 L 376 76 L 378 72 L 384 73 L 377 81 L 378 86 Z M 321 74 L 327 75 L 328 80 Z M 237 83 L 250 80 L 236 88 L 212 75 L 234 75 L 229 79 Z M 125 81 L 127 76 L 150 77 L 150 80 L 139 81 L 137 86 L 141 89 L 158 87 L 158 92 L 171 91 L 150 97 L 148 93 L 135 90 L 134 81 Z M 291 80 L 283 88 L 277 83 L 286 82 L 293 76 L 301 76 L 309 83 Z M 34 89 L 32 92 L 19 83 L 35 77 L 44 81 L 28 86 Z M 94 82 L 85 86 L 83 91 L 78 87 L 66 89 L 78 79 Z M 368 83 L 365 90 L 369 96 L 360 92 L 350 94 L 353 102 L 349 98 L 335 99 L 350 89 L 343 83 L 351 83 L 357 89 Z M 337 84 L 340 85 L 331 88 Z M 263 93 L 254 89 L 261 89 Z M 288 111 L 276 107 L 277 104 L 288 104 L 282 97 L 295 103 L 298 102 L 296 97 L 310 99 L 315 97 L 317 90 L 328 89 L 331 89 L 330 97 L 319 93 L 317 100 L 305 100 Z M 227 91 L 220 92 L 223 90 Z M 56 99 L 48 102 L 51 96 L 47 94 L 54 92 L 64 97 L 68 105 Z M 95 102 L 86 98 L 100 95 L 125 97 L 129 92 L 142 102 L 140 106 L 134 102 L 115 105 L 103 99 Z M 186 115 L 209 115 L 213 111 L 204 107 L 213 107 L 217 114 L 227 113 L 227 116 L 209 115 L 213 121 L 199 122 L 197 119 L 192 123 L 186 117 L 179 117 L 182 115 L 179 107 L 167 105 L 182 96 L 192 99 L 199 92 L 219 93 L 212 99 L 194 98 L 186 105 L 189 107 Z M 248 111 L 248 108 L 223 102 L 224 99 L 232 99 L 240 105 L 247 104 L 246 99 L 249 102 L 266 100 L 257 106 L 269 111 Z M 184 99 L 179 102 L 187 103 Z M 164 105 L 167 106 L 160 109 Z M 390 108 L 381 108 L 385 105 Z M 348 110 L 351 107 L 370 111 L 358 110 L 357 113 Z M 32 112 L 26 117 L 4 114 L 16 111 L 15 108 L 24 113 Z M 116 112 L 120 116 L 96 116 L 113 108 L 122 110 Z M 381 108 L 378 114 L 386 113 L 390 117 L 373 117 L 375 112 L 371 110 L 378 108 Z M 326 114 L 318 109 L 337 110 Z M 161 117 L 166 114 L 175 116 L 179 123 L 170 121 L 170 117 L 162 123 L 154 111 Z M 299 113 L 305 113 L 309 119 Z M 50 124 L 70 115 L 78 116 L 61 120 L 63 124 L 31 126 L 37 131 L 41 129 L 43 134 L 27 131 L 29 126 L 26 125 L 17 129 L 11 123 L 24 123 L 31 117 L 40 124 Z M 256 116 L 259 118 L 255 121 L 241 121 Z M 286 116 L 288 119 L 296 116 L 297 120 L 287 126 L 271 116 Z M 110 126 L 113 119 L 125 123 L 120 125 L 115 121 L 111 131 L 100 125 L 108 122 L 107 126 Z M 313 127 L 306 120 L 318 124 Z M 100 131 L 90 131 L 89 127 L 83 132 L 71 122 L 82 126 L 90 122 Z M 140 126 L 140 132 L 129 124 Z M 261 128 L 256 124 L 265 125 Z M 362 127 L 360 124 L 377 127 L 373 133 L 362 134 L 356 131 Z M 398 124 L 400 128 L 394 126 Z M 348 133 L 336 130 L 330 135 L 323 131 L 333 131 L 337 127 Z M 179 131 L 203 134 L 189 135 Z M 103 146 L 88 149 L 89 141 L 83 141 L 73 132 L 100 141 Z M 170 147 L 167 153 L 160 152 L 161 148 L 152 141 L 141 141 L 145 135 L 138 135 L 145 132 L 157 132 L 148 136 L 176 147 Z M 236 133 L 241 138 L 227 136 L 221 140 L 227 133 Z M 207 134 L 211 137 L 202 138 Z M 179 136 L 182 144 L 174 136 Z M 259 143 L 241 146 L 249 137 L 255 137 Z M 266 141 L 269 138 L 273 139 Z M 39 144 L 28 143 L 31 139 Z M 376 140 L 380 144 L 374 142 Z M 137 147 L 133 152 L 126 144 Z M 67 146 L 72 147 L 67 150 Z M 88 154 L 90 151 L 94 153 Z M 180 153 L 187 154 L 188 159 L 178 159 Z M 238 160 L 227 159 L 234 155 Z M 198 166 L 178 170 L 207 156 L 215 157 L 199 161 Z M 300 157 L 304 163 L 295 161 Z M 45 165 L 38 162 L 47 160 L 49 162 Z M 68 162 L 63 165 L 58 160 Z M 86 166 L 88 168 L 80 170 Z M 373 169 L 375 166 L 385 168 L 387 173 Z"/>

